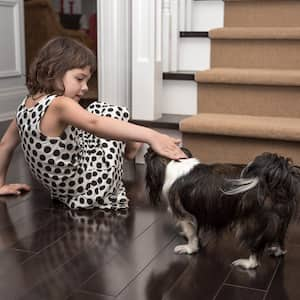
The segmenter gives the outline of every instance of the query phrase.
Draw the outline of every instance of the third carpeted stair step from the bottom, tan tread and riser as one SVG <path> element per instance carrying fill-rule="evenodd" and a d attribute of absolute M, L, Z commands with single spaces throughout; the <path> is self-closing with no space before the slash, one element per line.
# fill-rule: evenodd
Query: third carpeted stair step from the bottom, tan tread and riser
<path fill-rule="evenodd" d="M 228 27 L 209 36 L 211 67 L 300 69 L 300 27 Z"/>

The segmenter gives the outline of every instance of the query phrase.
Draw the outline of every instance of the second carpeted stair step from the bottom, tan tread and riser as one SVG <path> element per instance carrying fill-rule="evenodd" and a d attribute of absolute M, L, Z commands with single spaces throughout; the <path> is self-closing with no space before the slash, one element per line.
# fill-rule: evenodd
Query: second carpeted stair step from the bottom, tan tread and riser
<path fill-rule="evenodd" d="M 300 70 L 197 72 L 198 113 L 300 118 Z"/>

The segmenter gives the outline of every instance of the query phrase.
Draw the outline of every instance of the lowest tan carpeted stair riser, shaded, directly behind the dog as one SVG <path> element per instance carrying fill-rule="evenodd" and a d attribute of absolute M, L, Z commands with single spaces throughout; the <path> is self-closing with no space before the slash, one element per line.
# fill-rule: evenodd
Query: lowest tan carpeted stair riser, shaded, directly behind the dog
<path fill-rule="evenodd" d="M 248 163 L 263 152 L 290 157 L 300 165 L 300 143 L 280 140 L 184 133 L 184 147 L 203 163 Z"/>

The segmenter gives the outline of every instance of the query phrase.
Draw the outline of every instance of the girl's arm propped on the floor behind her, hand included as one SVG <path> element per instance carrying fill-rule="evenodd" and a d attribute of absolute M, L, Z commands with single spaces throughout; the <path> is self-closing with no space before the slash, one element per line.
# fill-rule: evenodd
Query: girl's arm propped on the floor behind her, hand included
<path fill-rule="evenodd" d="M 11 158 L 19 143 L 20 137 L 16 120 L 13 120 L 0 141 L 0 195 L 19 195 L 22 190 L 30 190 L 27 184 L 5 184 Z"/>

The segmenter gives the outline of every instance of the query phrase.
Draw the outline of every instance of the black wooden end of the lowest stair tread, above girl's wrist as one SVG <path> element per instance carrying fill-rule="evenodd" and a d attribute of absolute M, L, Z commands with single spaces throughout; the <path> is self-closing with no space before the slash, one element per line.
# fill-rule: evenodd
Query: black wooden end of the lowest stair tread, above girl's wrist
<path fill-rule="evenodd" d="M 150 128 L 179 130 L 180 121 L 187 117 L 190 117 L 190 115 L 163 114 L 161 118 L 153 121 L 131 119 L 130 122 Z"/>

